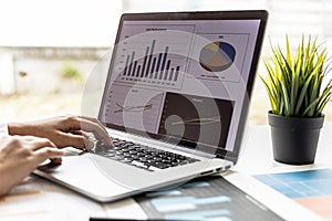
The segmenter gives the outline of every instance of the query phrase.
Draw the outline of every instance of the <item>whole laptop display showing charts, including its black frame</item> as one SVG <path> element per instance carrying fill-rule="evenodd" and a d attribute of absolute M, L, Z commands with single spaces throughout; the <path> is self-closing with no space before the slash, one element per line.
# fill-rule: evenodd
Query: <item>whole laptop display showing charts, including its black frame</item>
<path fill-rule="evenodd" d="M 266 11 L 123 14 L 100 119 L 235 157 L 266 19 Z"/>

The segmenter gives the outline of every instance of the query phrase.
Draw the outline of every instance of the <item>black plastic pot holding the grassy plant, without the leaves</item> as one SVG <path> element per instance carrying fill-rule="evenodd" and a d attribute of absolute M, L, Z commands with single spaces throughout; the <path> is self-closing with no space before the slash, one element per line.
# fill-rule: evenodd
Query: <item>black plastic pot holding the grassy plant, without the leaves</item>
<path fill-rule="evenodd" d="M 324 115 L 302 118 L 269 112 L 274 160 L 289 165 L 313 164 L 323 123 Z"/>

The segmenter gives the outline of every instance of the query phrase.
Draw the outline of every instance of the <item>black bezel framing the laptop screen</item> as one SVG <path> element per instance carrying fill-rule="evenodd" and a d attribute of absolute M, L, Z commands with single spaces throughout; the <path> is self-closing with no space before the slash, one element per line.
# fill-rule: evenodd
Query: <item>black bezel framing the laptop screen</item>
<path fill-rule="evenodd" d="M 118 24 L 118 30 L 115 39 L 115 44 L 120 42 L 120 35 L 121 35 L 121 28 L 123 27 L 124 21 L 157 21 L 157 20 L 259 20 L 259 29 L 257 33 L 257 40 L 256 40 L 256 45 L 253 50 L 253 56 L 252 56 L 252 62 L 250 65 L 250 71 L 249 71 L 249 77 L 248 82 L 246 85 L 246 92 L 247 96 L 243 98 L 243 104 L 240 113 L 240 119 L 239 119 L 239 125 L 236 129 L 236 139 L 234 144 L 234 150 L 228 151 L 226 149 L 221 149 L 220 147 L 209 147 L 204 144 L 196 144 L 190 140 L 179 140 L 176 137 L 169 137 L 167 136 L 167 143 L 169 144 L 176 144 L 178 146 L 183 146 L 186 148 L 195 148 L 196 150 L 204 151 L 204 152 L 209 152 L 209 154 L 215 154 L 216 157 L 231 160 L 234 164 L 237 162 L 240 147 L 242 144 L 242 138 L 243 138 L 243 131 L 246 127 L 246 122 L 248 117 L 248 112 L 249 112 L 249 104 L 250 104 L 250 98 L 252 94 L 252 88 L 253 88 L 253 82 L 256 78 L 256 72 L 258 67 L 258 61 L 260 56 L 260 51 L 262 48 L 262 41 L 264 36 L 264 30 L 267 25 L 267 20 L 268 20 L 268 12 L 266 10 L 249 10 L 249 11 L 195 11 L 195 12 L 156 12 L 156 13 L 124 13 L 121 17 L 120 24 Z M 107 78 L 106 78 L 106 84 L 108 85 L 111 82 L 111 76 L 112 76 L 112 70 L 114 65 L 114 54 L 116 52 L 116 49 L 113 50 L 111 63 L 110 63 L 110 69 L 107 73 Z M 101 108 L 100 108 L 100 114 L 98 114 L 98 119 L 102 120 L 102 113 L 103 113 L 103 106 L 105 104 L 107 97 L 107 87 L 105 86 L 104 93 L 103 93 L 103 98 L 101 103 Z M 125 133 L 138 135 L 138 136 L 145 136 L 147 135 L 146 131 L 141 131 L 141 130 L 135 130 L 132 128 L 126 128 L 124 126 L 118 126 L 118 125 L 113 125 L 108 124 L 105 122 L 102 122 L 106 127 L 115 130 L 122 130 Z M 154 139 L 158 140 L 165 140 L 166 136 L 165 135 L 156 135 L 156 134 L 149 134 L 148 136 Z"/>

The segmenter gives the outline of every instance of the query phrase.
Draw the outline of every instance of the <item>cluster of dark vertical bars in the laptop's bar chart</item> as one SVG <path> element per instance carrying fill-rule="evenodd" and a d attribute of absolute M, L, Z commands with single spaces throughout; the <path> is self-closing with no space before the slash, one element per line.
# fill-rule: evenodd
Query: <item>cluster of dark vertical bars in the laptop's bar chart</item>
<path fill-rule="evenodd" d="M 172 60 L 167 59 L 169 48 L 165 46 L 164 52 L 155 54 L 156 40 L 152 41 L 151 46 L 145 49 L 142 60 L 135 61 L 137 52 L 133 51 L 126 56 L 124 76 L 133 76 L 144 80 L 160 80 L 176 82 L 178 80 L 180 66 L 172 67 Z"/>

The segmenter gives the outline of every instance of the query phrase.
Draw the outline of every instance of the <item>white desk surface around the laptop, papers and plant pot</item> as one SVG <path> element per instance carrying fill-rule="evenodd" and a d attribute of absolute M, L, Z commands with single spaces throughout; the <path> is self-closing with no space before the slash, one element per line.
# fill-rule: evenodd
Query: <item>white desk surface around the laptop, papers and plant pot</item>
<path fill-rule="evenodd" d="M 268 126 L 250 126 L 239 162 L 224 177 L 287 220 L 319 220 L 313 212 L 271 190 L 251 175 L 331 167 L 331 131 L 332 124 L 325 124 L 315 164 L 295 167 L 273 161 Z M 28 178 L 10 194 L 0 198 L 0 220 L 89 220 L 90 217 L 146 218 L 133 199 L 97 203 L 35 177 Z"/>

